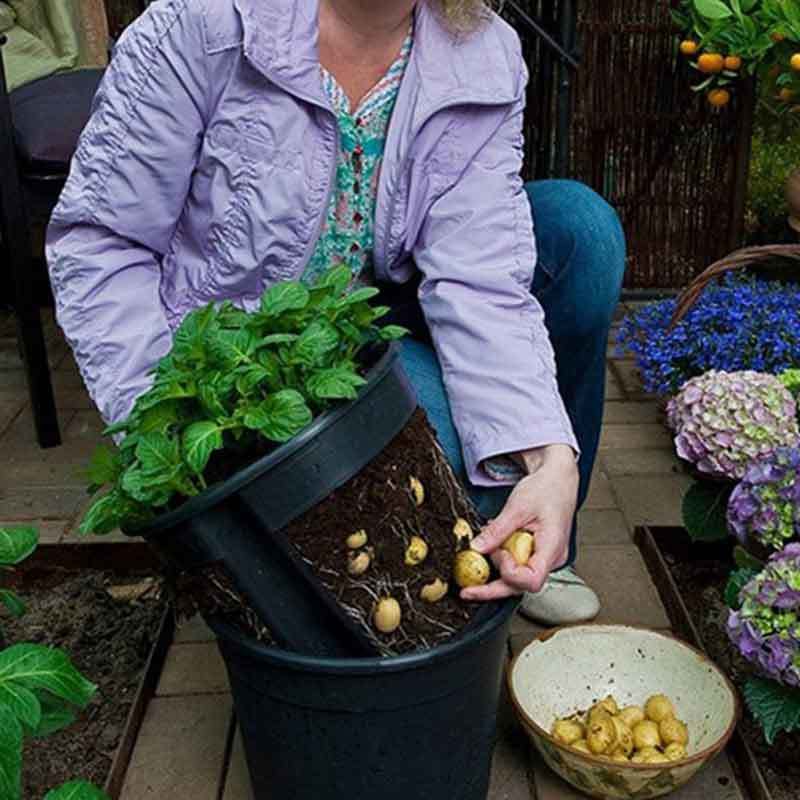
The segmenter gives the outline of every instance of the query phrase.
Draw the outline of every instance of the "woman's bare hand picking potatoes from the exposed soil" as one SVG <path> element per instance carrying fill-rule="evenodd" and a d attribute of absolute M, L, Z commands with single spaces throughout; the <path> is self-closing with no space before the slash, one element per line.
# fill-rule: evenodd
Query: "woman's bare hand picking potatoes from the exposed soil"
<path fill-rule="evenodd" d="M 569 538 L 578 496 L 578 466 L 567 445 L 550 445 L 521 454 L 528 475 L 514 487 L 505 507 L 476 537 L 474 550 L 491 555 L 500 578 L 486 586 L 464 589 L 464 600 L 497 600 L 538 592 L 548 575 L 569 554 Z M 501 549 L 514 531 L 535 535 L 536 552 L 525 566 Z"/>

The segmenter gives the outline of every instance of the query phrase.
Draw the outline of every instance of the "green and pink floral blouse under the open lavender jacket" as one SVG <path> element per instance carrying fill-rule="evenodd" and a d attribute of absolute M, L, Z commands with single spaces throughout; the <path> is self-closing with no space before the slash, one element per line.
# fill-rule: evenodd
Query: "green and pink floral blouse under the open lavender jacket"
<path fill-rule="evenodd" d="M 409 31 L 400 55 L 354 112 L 333 75 L 320 67 L 323 88 L 339 120 L 340 148 L 328 215 L 303 273 L 306 283 L 313 283 L 321 272 L 340 264 L 347 264 L 359 282 L 372 281 L 378 178 L 389 120 L 412 43 L 413 31 Z"/>

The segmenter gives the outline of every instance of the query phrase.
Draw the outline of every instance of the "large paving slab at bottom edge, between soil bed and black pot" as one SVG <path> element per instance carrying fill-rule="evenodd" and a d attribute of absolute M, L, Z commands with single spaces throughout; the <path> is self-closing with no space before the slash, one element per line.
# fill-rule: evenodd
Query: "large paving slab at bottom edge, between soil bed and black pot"
<path fill-rule="evenodd" d="M 153 699 L 121 800 L 217 800 L 230 726 L 228 695 Z"/>

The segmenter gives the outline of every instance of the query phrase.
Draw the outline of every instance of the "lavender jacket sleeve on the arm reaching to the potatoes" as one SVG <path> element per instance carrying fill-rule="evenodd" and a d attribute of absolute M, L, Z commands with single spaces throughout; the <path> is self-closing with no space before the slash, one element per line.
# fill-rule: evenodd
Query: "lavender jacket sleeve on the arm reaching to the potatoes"
<path fill-rule="evenodd" d="M 520 72 L 524 87 L 521 59 Z M 520 177 L 524 103 L 521 91 L 495 135 L 434 202 L 413 254 L 467 476 L 478 486 L 498 484 L 482 466 L 487 459 L 548 444 L 578 452 L 544 313 L 531 294 L 536 246 Z"/>

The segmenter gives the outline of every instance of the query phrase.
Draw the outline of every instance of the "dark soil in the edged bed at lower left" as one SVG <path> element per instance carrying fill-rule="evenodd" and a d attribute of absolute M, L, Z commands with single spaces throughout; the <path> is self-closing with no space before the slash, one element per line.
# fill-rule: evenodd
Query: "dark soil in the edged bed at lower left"
<path fill-rule="evenodd" d="M 115 599 L 109 593 L 137 584 L 133 595 L 147 587 L 140 597 Z M 143 576 L 54 570 L 23 576 L 14 588 L 27 612 L 19 620 L 3 619 L 6 641 L 63 648 L 98 686 L 75 723 L 46 739 L 26 741 L 22 797 L 41 800 L 75 778 L 103 786 L 158 633 L 165 607 L 160 584 Z"/>

